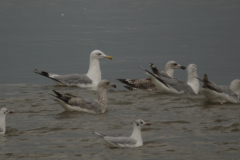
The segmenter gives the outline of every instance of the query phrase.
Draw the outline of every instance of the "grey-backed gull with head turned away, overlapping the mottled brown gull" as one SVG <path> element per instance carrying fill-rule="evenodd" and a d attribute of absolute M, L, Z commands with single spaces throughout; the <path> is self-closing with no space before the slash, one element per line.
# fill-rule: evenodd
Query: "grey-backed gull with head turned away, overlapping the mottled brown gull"
<path fill-rule="evenodd" d="M 177 78 L 170 78 L 159 75 L 155 75 L 148 70 L 140 67 L 151 78 L 152 83 L 157 87 L 157 92 L 161 93 L 194 93 L 199 92 L 199 82 L 195 77 L 197 75 L 197 66 L 195 64 L 189 64 L 187 67 L 188 81 L 187 83 L 178 80 Z"/>

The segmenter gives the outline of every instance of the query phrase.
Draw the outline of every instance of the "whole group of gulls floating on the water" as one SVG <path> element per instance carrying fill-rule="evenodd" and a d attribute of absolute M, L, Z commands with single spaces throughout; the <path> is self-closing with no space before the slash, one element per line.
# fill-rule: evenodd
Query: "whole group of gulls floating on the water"
<path fill-rule="evenodd" d="M 66 111 L 79 111 L 91 114 L 105 113 L 107 107 L 107 89 L 110 87 L 116 88 L 115 84 L 101 77 L 100 59 L 107 58 L 112 60 L 111 56 L 105 55 L 100 50 L 94 50 L 90 54 L 90 65 L 87 74 L 69 74 L 58 75 L 40 71 L 35 69 L 35 73 L 52 79 L 58 85 L 78 86 L 78 87 L 92 87 L 97 89 L 97 97 L 95 99 L 87 99 L 84 97 L 72 95 L 70 93 L 60 93 L 53 90 L 52 96 Z M 154 64 L 150 63 L 152 72 L 142 68 L 149 78 L 145 79 L 117 79 L 124 83 L 125 88 L 129 90 L 143 89 L 161 93 L 174 94 L 198 94 L 200 91 L 199 81 L 203 82 L 201 89 L 202 94 L 210 102 L 224 102 L 239 103 L 240 96 L 240 80 L 235 79 L 230 84 L 230 87 L 218 86 L 214 82 L 208 80 L 207 74 L 203 79 L 200 79 L 197 74 L 197 65 L 189 64 L 184 67 L 175 61 L 169 61 L 165 66 L 165 71 L 159 71 Z M 174 70 L 187 70 L 187 83 L 174 78 Z M 0 134 L 5 134 L 5 116 L 11 113 L 6 108 L 0 110 Z M 150 125 L 141 119 L 133 123 L 133 132 L 130 137 L 111 137 L 97 132 L 96 135 L 103 137 L 103 139 L 112 147 L 140 147 L 143 145 L 141 136 L 141 127 L 143 125 Z"/>

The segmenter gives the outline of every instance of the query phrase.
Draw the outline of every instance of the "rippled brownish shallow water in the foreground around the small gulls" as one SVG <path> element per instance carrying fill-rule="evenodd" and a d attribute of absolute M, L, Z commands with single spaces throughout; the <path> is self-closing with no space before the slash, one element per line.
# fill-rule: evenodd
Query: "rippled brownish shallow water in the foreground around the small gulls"
<path fill-rule="evenodd" d="M 209 104 L 200 95 L 168 95 L 149 91 L 108 92 L 104 114 L 65 112 L 49 95 L 51 89 L 94 97 L 77 87 L 1 85 L 1 107 L 7 132 L 1 137 L 0 157 L 56 159 L 237 159 L 239 104 Z M 6 89 L 7 88 L 7 89 Z M 142 118 L 144 146 L 114 149 L 97 131 L 129 136 L 132 122 Z"/>

